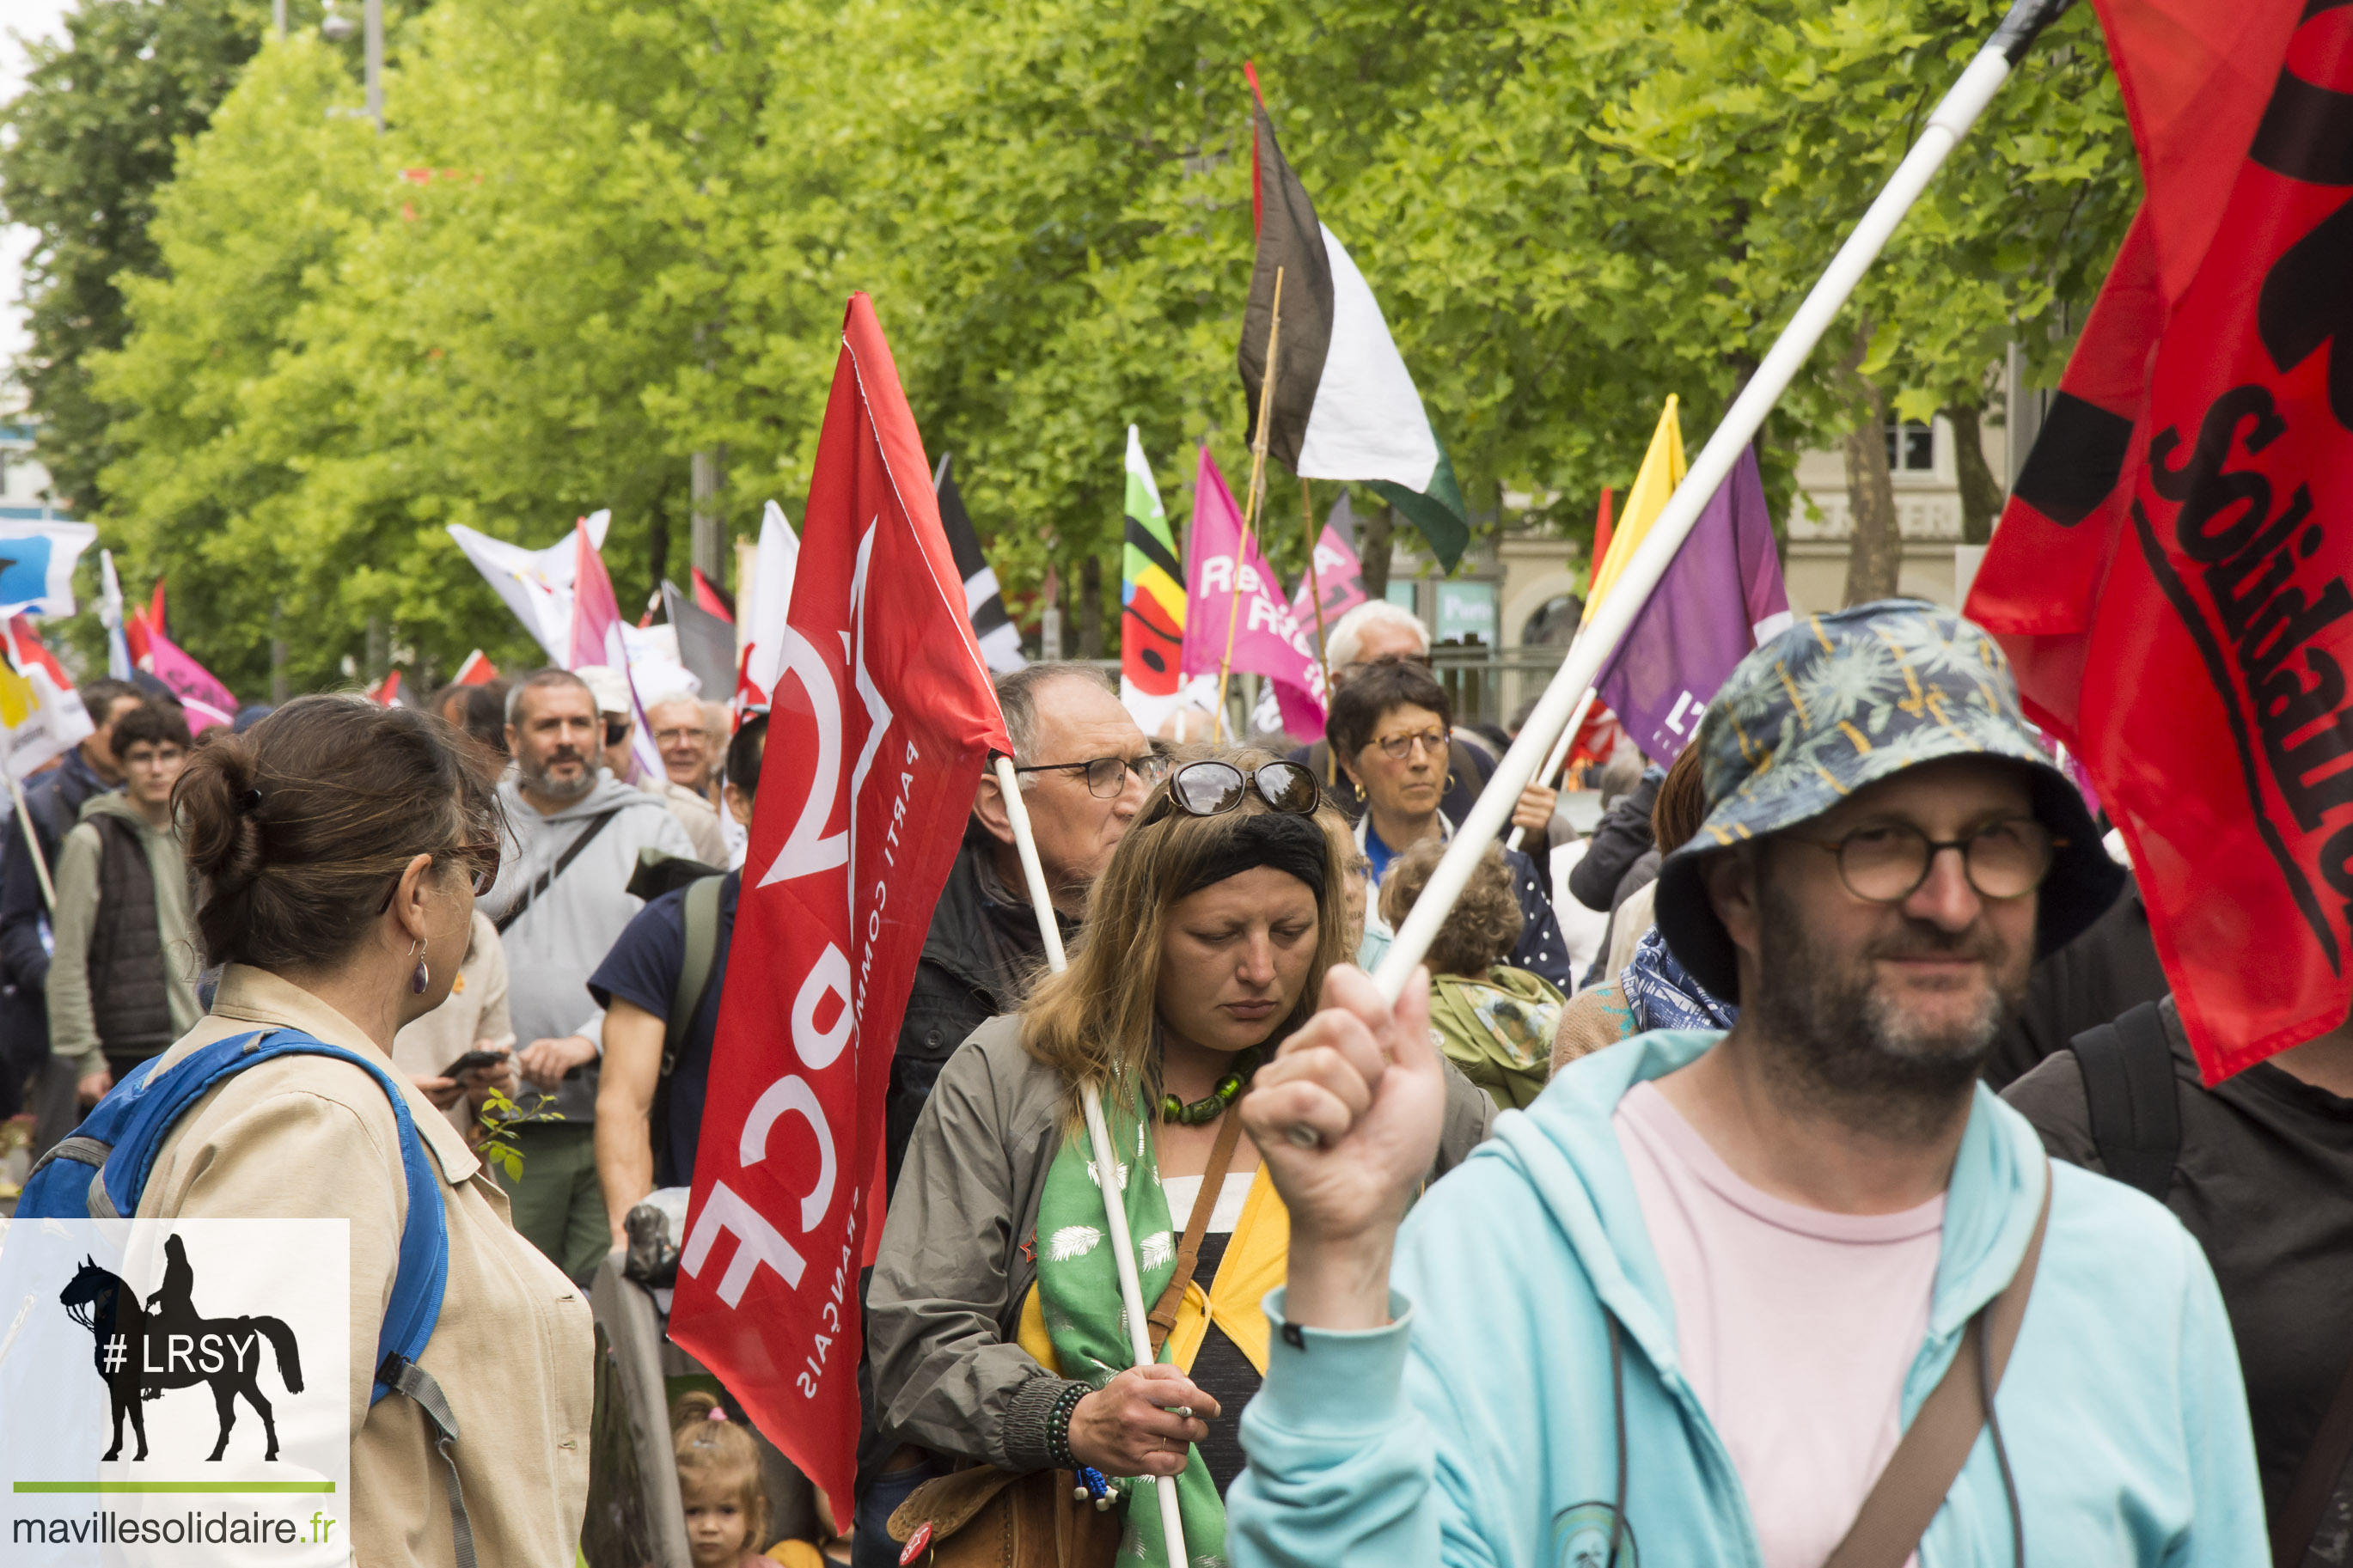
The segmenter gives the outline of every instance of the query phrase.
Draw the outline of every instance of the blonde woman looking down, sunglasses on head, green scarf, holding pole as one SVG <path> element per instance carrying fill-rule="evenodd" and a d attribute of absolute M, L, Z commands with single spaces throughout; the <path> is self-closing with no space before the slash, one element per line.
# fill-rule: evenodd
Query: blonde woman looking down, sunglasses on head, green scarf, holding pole
<path fill-rule="evenodd" d="M 1289 1220 L 1233 1103 L 1346 961 L 1346 820 L 1268 752 L 1179 762 L 1094 886 L 1071 969 L 984 1025 L 915 1124 L 866 1298 L 875 1420 L 936 1469 L 1082 1467 L 1158 1563 L 1151 1483 L 1217 1556 Z M 1129 1368 L 1080 1084 L 1104 1095 L 1160 1366 Z M 1492 1119 L 1447 1079 L 1433 1178 Z M 908 1502 L 925 1516 L 927 1497 Z M 1125 1559 L 1122 1559 L 1125 1561 Z"/>

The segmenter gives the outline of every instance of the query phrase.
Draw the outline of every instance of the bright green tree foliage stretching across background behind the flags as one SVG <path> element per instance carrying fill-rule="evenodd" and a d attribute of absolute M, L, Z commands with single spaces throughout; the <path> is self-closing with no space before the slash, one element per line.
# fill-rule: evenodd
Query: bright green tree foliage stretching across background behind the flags
<path fill-rule="evenodd" d="M 739 534 L 769 496 L 800 515 L 842 299 L 866 289 L 1019 611 L 1049 567 L 1111 567 L 1127 423 L 1179 515 L 1195 442 L 1247 482 L 1254 59 L 1466 494 L 1558 496 L 1581 529 L 1666 393 L 1704 435 L 1995 19 L 440 0 L 395 33 L 386 136 L 325 115 L 355 87 L 296 40 L 186 143 L 155 223 L 169 280 L 132 292 L 104 378 L 136 409 L 104 522 L 172 571 L 191 646 L 233 682 L 273 599 L 304 679 L 332 679 L 369 614 L 440 668 L 475 642 L 515 658 L 442 524 L 536 545 L 612 505 L 607 562 L 642 604 L 685 571 L 692 451 L 727 454 Z M 2012 334 L 2064 353 L 2049 322 L 2089 299 L 2134 197 L 2078 12 L 1793 388 L 1769 473 L 1786 487 L 1800 447 L 1854 423 L 1840 360 L 1918 418 L 1984 407 Z M 1278 564 L 1304 555 L 1282 475 L 1266 527 Z"/>

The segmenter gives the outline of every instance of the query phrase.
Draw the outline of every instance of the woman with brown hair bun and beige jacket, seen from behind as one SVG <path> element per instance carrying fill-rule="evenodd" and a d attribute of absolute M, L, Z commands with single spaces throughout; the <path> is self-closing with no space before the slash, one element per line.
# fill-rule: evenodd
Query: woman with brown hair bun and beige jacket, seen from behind
<path fill-rule="evenodd" d="M 256 1030 L 341 1046 L 398 1086 L 447 1225 L 440 1319 L 416 1368 L 440 1385 L 445 1453 L 414 1396 L 372 1399 L 409 1185 L 393 1103 L 362 1067 L 278 1056 L 226 1079 L 160 1145 L 139 1218 L 351 1222 L 351 1552 L 567 1563 L 588 1502 L 588 1302 L 508 1222 L 466 1138 L 393 1063 L 449 994 L 473 900 L 499 875 L 499 802 L 466 738 L 412 708 L 306 696 L 188 759 L 172 792 L 212 1013 L 148 1079 Z M 252 1281 L 247 1281 L 249 1286 Z M 529 1396 L 504 1375 L 527 1368 Z"/>

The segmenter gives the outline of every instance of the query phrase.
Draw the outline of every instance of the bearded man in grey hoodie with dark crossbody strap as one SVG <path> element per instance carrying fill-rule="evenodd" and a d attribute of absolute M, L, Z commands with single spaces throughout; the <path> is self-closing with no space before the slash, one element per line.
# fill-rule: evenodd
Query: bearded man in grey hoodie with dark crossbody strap
<path fill-rule="evenodd" d="M 515 1229 L 586 1279 L 612 1225 L 595 1175 L 595 1091 L 605 1013 L 588 976 L 645 900 L 628 893 L 638 851 L 694 856 L 664 804 L 600 766 L 595 696 L 567 670 L 536 670 L 506 693 L 515 771 L 499 785 L 513 844 L 482 900 L 506 943 L 518 1058 L 529 1103 L 562 1121 L 518 1126 L 522 1178 L 506 1182 Z"/>

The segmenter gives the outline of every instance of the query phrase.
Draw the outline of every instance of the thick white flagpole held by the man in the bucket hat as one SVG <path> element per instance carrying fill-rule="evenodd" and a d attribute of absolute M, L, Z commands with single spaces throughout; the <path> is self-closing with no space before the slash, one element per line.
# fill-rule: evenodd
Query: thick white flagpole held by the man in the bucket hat
<path fill-rule="evenodd" d="M 1388 1001 L 1395 1001 L 1405 992 L 1405 983 L 1431 950 L 1438 929 L 1454 912 L 1454 900 L 1461 898 L 1480 851 L 1494 842 L 1506 818 L 1511 818 L 1520 790 L 1537 776 L 1537 764 L 1551 755 L 1553 743 L 1569 719 L 1569 710 L 1579 703 L 1579 693 L 1593 686 L 1593 677 L 1600 675 L 1602 663 L 1617 649 L 1619 639 L 1626 637 L 1628 628 L 1633 628 L 1649 592 L 1666 576 L 1668 564 L 1673 564 L 1675 550 L 1682 548 L 1692 524 L 1699 522 L 1699 512 L 1732 473 L 1732 463 L 1739 461 L 1741 447 L 1762 428 L 1774 402 L 1788 390 L 1788 383 L 1805 367 L 1821 334 L 1831 329 L 1847 296 L 1854 294 L 1854 284 L 1864 280 L 1864 273 L 1878 259 L 1911 205 L 1920 200 L 1937 169 L 1944 167 L 1953 146 L 1977 125 L 1977 118 L 2009 78 L 2009 68 L 2026 54 L 2035 33 L 2059 16 L 2066 5 L 2068 0 L 2017 0 L 2009 7 L 2002 26 L 1993 31 L 1986 47 L 1977 52 L 1977 59 L 1960 73 L 1953 89 L 1937 103 L 1937 110 L 1927 118 L 1927 129 L 1920 132 L 1920 141 L 1897 165 L 1878 200 L 1864 212 L 1861 223 L 1838 247 L 1831 266 L 1814 282 L 1814 292 L 1805 296 L 1798 315 L 1791 317 L 1779 341 L 1765 355 L 1765 362 L 1758 364 L 1755 376 L 1732 400 L 1725 421 L 1715 425 L 1715 435 L 1708 437 L 1699 458 L 1682 475 L 1682 484 L 1668 496 L 1659 520 L 1642 536 L 1642 545 L 1593 611 L 1593 621 L 1586 623 L 1584 635 L 1569 646 L 1569 656 L 1544 689 L 1544 698 L 1529 715 L 1527 726 L 1520 729 L 1520 738 L 1504 752 L 1504 762 L 1497 764 L 1494 778 L 1487 780 L 1478 804 L 1457 825 L 1454 839 L 1431 872 L 1421 898 L 1414 900 L 1414 910 L 1398 926 L 1398 936 L 1388 945 L 1388 957 L 1381 959 L 1381 966 L 1372 976 Z M 1569 733 L 1574 736 L 1574 731 Z M 1315 1143 L 1315 1133 L 1306 1128 L 1292 1128 L 1292 1135 L 1308 1145 Z"/>

